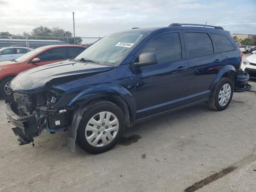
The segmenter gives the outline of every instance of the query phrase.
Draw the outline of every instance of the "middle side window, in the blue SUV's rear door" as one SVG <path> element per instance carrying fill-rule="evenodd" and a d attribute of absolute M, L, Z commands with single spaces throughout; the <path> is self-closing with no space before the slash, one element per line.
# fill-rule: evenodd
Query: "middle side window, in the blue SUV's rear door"
<path fill-rule="evenodd" d="M 213 54 L 212 40 L 207 33 L 186 32 L 185 34 L 190 58 Z"/>

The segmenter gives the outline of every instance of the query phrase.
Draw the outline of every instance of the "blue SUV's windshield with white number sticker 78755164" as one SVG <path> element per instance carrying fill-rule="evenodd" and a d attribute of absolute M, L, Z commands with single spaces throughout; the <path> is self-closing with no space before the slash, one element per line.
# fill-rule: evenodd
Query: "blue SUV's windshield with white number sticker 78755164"
<path fill-rule="evenodd" d="M 117 66 L 144 36 L 146 33 L 141 32 L 108 35 L 84 50 L 75 60 L 84 58 L 103 65 Z"/>

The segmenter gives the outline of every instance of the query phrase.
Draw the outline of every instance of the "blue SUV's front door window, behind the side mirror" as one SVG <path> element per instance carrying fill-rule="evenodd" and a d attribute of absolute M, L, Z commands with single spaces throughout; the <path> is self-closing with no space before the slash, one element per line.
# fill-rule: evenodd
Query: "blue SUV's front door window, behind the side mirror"
<path fill-rule="evenodd" d="M 144 52 L 155 52 L 158 63 L 181 59 L 179 33 L 168 33 L 156 37 L 142 50 L 142 53 Z"/>

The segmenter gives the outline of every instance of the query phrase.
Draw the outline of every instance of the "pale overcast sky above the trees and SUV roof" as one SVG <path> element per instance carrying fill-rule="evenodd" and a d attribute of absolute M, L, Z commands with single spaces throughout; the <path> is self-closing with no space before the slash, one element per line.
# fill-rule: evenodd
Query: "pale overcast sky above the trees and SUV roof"
<path fill-rule="evenodd" d="M 230 33 L 256 34 L 256 0 L 0 0 L 0 31 L 60 27 L 76 36 L 101 37 L 132 27 L 197 23 Z"/>

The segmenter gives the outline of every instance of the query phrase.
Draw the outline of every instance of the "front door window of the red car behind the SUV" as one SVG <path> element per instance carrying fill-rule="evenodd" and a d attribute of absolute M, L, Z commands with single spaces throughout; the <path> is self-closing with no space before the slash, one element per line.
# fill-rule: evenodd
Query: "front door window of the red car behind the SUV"
<path fill-rule="evenodd" d="M 65 54 L 65 48 L 50 49 L 36 57 L 40 58 L 41 61 L 67 59 L 66 54 Z"/>

